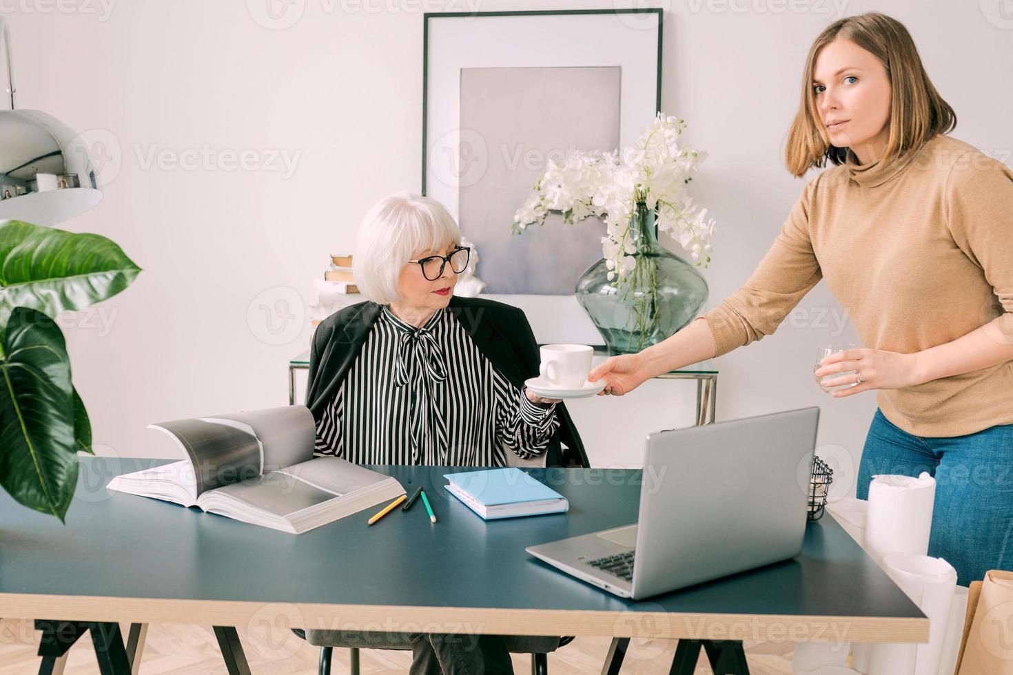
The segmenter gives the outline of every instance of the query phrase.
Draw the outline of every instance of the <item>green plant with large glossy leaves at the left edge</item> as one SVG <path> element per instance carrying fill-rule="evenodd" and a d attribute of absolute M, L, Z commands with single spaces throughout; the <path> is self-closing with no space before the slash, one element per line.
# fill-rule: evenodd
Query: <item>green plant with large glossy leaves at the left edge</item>
<path fill-rule="evenodd" d="M 116 294 L 141 271 L 114 243 L 0 221 L 0 485 L 65 521 L 91 425 L 54 319 Z"/>

